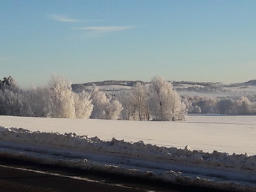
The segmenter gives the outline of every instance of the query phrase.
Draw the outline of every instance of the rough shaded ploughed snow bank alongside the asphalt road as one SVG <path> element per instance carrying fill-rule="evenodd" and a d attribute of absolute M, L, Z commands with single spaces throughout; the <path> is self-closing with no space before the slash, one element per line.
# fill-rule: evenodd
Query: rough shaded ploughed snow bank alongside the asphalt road
<path fill-rule="evenodd" d="M 256 156 L 204 153 L 176 147 L 159 147 L 143 141 L 29 131 L 0 127 L 1 156 L 68 167 L 108 171 L 185 185 L 237 191 L 256 190 Z"/>

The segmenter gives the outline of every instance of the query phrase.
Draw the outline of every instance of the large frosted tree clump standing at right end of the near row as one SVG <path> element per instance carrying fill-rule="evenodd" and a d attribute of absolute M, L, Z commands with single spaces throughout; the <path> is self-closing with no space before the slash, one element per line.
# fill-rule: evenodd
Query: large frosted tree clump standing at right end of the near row
<path fill-rule="evenodd" d="M 121 92 L 118 98 L 124 107 L 122 118 L 126 120 L 185 120 L 185 104 L 172 84 L 161 77 L 153 77 L 148 86 L 137 83 L 131 92 Z"/>

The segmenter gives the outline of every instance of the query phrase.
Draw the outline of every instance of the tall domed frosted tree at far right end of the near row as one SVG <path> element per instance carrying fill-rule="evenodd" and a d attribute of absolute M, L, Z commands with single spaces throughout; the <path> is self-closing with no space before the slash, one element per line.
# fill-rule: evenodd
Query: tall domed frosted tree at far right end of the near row
<path fill-rule="evenodd" d="M 181 121 L 186 106 L 170 82 L 153 77 L 150 84 L 150 109 L 156 121 Z"/>

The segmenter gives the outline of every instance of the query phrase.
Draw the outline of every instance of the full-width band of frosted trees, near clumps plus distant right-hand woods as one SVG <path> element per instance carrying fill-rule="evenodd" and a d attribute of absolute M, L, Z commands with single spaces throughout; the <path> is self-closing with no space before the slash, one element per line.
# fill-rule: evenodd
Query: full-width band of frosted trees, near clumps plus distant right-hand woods
<path fill-rule="evenodd" d="M 132 87 L 108 94 L 97 86 L 113 84 Z M 256 95 L 180 97 L 173 84 L 161 77 L 153 77 L 149 83 L 104 81 L 86 85 L 91 88 L 84 89 L 83 85 L 76 92 L 69 80 L 52 77 L 46 86 L 22 90 L 13 77 L 4 77 L 0 80 L 0 115 L 136 121 L 182 121 L 188 113 L 256 115 Z"/>

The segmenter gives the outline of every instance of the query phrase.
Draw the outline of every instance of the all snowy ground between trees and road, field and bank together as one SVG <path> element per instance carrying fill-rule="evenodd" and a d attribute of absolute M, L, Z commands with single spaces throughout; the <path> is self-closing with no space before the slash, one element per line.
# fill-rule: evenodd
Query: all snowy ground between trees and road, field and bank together
<path fill-rule="evenodd" d="M 184 122 L 0 116 L 0 126 L 1 156 L 256 190 L 256 116 L 190 115 Z"/>

